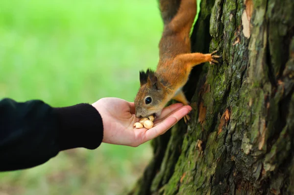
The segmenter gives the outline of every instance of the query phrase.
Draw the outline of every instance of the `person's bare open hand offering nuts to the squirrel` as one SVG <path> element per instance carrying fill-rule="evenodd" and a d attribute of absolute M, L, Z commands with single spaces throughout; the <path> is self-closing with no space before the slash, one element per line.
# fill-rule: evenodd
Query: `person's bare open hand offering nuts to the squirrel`
<path fill-rule="evenodd" d="M 154 120 L 154 126 L 148 130 L 133 128 L 133 124 L 139 121 L 135 116 L 133 102 L 105 97 L 92 105 L 102 117 L 104 129 L 102 142 L 134 147 L 164 134 L 192 110 L 191 106 L 183 106 L 181 103 L 165 107 L 161 115 Z"/>

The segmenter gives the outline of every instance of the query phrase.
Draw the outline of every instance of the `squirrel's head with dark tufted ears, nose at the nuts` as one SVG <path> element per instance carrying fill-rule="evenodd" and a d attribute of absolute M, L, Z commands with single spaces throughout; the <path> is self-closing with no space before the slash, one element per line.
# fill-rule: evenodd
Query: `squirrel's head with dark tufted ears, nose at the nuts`
<path fill-rule="evenodd" d="M 140 89 L 135 98 L 136 117 L 160 115 L 165 106 L 165 94 L 165 88 L 156 73 L 150 69 L 146 73 L 140 71 Z"/>

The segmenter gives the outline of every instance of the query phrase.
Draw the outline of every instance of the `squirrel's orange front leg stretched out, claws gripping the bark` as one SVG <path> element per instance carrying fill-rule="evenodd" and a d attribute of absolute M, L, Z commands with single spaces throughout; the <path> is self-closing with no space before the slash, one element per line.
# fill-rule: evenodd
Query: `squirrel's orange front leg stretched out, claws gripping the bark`
<path fill-rule="evenodd" d="M 210 64 L 219 63 L 214 58 L 220 58 L 219 55 L 214 55 L 217 51 L 212 53 L 203 54 L 203 53 L 185 53 L 180 54 L 175 57 L 176 60 L 182 61 L 186 66 L 191 69 L 201 63 L 209 62 Z"/>

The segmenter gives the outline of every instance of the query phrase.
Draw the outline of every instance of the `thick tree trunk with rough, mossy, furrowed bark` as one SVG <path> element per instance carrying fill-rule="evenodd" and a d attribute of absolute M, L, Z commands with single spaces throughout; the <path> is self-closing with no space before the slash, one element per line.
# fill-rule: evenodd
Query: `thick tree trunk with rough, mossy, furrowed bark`
<path fill-rule="evenodd" d="M 294 194 L 294 0 L 202 0 L 193 112 L 153 140 L 130 195 Z"/>

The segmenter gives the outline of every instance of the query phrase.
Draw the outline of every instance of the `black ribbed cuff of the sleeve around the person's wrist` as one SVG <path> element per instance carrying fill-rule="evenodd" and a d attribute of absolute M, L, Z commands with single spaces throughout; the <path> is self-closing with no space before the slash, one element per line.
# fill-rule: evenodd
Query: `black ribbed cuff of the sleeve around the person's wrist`
<path fill-rule="evenodd" d="M 92 105 L 81 103 L 54 108 L 59 122 L 58 143 L 60 150 L 76 147 L 95 149 L 103 139 L 103 122 Z"/>

